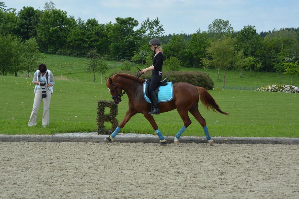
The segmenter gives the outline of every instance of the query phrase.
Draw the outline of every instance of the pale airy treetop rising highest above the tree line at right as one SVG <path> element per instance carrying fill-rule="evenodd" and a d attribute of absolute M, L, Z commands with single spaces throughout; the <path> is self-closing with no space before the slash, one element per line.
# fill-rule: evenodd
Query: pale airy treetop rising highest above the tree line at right
<path fill-rule="evenodd" d="M 227 36 L 233 32 L 234 28 L 231 27 L 228 20 L 214 19 L 213 23 L 208 25 L 208 33 L 213 35 L 216 39 L 220 39 L 222 36 Z"/>

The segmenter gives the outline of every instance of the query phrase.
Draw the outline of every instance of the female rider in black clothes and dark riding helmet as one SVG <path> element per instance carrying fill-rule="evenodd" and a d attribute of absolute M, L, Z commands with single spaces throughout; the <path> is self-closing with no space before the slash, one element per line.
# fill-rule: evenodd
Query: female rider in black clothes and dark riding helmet
<path fill-rule="evenodd" d="M 162 47 L 160 46 L 161 43 L 159 41 L 159 39 L 151 39 L 149 41 L 149 45 L 150 48 L 152 49 L 152 51 L 155 52 L 155 56 L 152 58 L 152 65 L 148 68 L 145 68 L 143 70 L 141 70 L 141 73 L 145 73 L 149 70 L 152 70 L 152 80 L 149 84 L 149 94 L 150 94 L 150 98 L 152 101 L 152 105 L 153 105 L 153 111 L 149 112 L 148 114 L 160 114 L 159 111 L 159 107 L 158 107 L 158 97 L 155 94 L 155 88 L 157 87 L 158 83 L 161 81 L 162 79 L 162 66 L 163 66 L 163 60 L 164 60 L 164 56 L 163 56 L 163 50 Z"/>

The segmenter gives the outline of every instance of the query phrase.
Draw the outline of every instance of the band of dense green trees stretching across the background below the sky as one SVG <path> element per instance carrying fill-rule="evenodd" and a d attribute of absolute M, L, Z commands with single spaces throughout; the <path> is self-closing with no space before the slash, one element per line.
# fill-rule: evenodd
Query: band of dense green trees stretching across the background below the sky
<path fill-rule="evenodd" d="M 213 67 L 218 71 L 235 68 L 240 70 L 240 76 L 242 70 L 280 74 L 288 71 L 296 74 L 299 70 L 298 27 L 257 33 L 254 25 L 234 30 L 229 21 L 215 19 L 207 31 L 165 35 L 158 17 L 147 18 L 140 26 L 133 17 L 117 17 L 115 21 L 104 24 L 96 19 L 75 19 L 66 11 L 56 9 L 51 0 L 46 2 L 44 10 L 24 6 L 17 13 L 0 2 L 0 38 L 11 37 L 11 41 L 24 44 L 30 39 L 43 53 L 48 49 L 82 53 L 97 49 L 98 54 L 130 57 L 150 64 L 152 52 L 147 45 L 151 38 L 158 38 L 165 63 L 176 63 L 177 68 Z"/>

